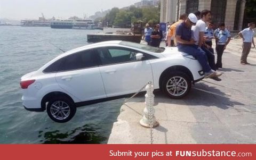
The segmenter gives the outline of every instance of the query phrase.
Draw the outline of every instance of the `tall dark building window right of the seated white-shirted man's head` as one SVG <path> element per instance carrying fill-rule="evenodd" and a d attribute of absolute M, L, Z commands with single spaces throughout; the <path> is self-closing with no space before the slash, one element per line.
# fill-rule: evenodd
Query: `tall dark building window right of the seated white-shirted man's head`
<path fill-rule="evenodd" d="M 219 25 L 219 23 L 225 22 L 227 0 L 214 0 L 211 1 L 211 15 L 212 21 Z"/>

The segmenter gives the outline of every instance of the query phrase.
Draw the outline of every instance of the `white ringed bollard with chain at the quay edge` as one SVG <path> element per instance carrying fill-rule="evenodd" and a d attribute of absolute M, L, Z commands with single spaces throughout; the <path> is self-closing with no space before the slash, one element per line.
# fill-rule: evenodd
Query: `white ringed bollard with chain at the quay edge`
<path fill-rule="evenodd" d="M 156 121 L 156 117 L 154 115 L 155 109 L 153 107 L 154 105 L 154 86 L 149 82 L 149 84 L 146 86 L 147 93 L 145 95 L 145 103 L 146 107 L 144 108 L 143 112 L 143 118 L 140 120 L 140 125 L 146 128 L 155 128 L 159 125 L 159 123 Z M 151 112 L 150 112 L 151 111 Z"/>

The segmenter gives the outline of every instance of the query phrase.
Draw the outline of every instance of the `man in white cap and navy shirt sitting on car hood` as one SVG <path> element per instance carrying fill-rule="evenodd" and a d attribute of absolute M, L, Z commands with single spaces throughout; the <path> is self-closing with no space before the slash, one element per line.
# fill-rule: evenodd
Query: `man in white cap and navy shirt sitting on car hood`
<path fill-rule="evenodd" d="M 205 72 L 205 78 L 215 77 L 217 76 L 217 72 L 210 68 L 205 52 L 195 45 L 195 40 L 192 38 L 191 26 L 195 26 L 196 22 L 196 15 L 190 13 L 188 18 L 177 26 L 176 38 L 178 50 L 180 52 L 193 55 L 195 58 L 197 58 L 198 62 L 203 68 L 203 71 Z"/>

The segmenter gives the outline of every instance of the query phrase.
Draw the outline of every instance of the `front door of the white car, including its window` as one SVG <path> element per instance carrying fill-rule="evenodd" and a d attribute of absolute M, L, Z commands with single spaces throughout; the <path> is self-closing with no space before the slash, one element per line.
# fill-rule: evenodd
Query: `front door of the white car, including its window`
<path fill-rule="evenodd" d="M 137 53 L 137 50 L 125 47 L 98 49 L 100 72 L 107 97 L 131 94 L 141 89 L 148 81 L 153 82 L 150 62 L 136 61 Z"/>

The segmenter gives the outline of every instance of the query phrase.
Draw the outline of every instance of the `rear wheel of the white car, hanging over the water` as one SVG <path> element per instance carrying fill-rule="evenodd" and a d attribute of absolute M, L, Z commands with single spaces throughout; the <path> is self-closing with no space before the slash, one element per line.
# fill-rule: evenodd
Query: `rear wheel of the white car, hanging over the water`
<path fill-rule="evenodd" d="M 55 97 L 47 104 L 47 114 L 55 122 L 65 123 L 73 118 L 76 106 L 69 97 Z"/>

